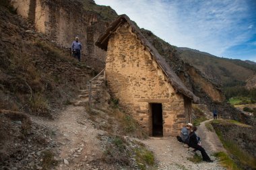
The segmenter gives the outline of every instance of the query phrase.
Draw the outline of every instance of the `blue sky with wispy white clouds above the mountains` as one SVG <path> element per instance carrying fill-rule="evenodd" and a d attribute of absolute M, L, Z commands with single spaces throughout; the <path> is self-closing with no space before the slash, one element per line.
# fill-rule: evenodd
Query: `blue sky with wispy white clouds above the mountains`
<path fill-rule="evenodd" d="M 94 0 L 166 42 L 256 61 L 256 0 Z"/>

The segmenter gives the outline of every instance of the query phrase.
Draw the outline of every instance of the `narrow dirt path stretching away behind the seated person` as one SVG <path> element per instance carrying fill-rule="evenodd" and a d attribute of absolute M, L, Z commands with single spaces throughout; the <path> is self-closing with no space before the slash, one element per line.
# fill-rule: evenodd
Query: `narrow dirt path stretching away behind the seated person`
<path fill-rule="evenodd" d="M 206 150 L 211 151 L 212 153 L 224 151 L 226 150 L 222 146 L 222 142 L 220 142 L 215 131 L 211 132 L 205 126 L 205 123 L 210 122 L 211 120 L 206 120 L 205 122 L 201 122 L 198 126 L 197 135 L 200 136 L 202 140 L 202 146 Z"/>

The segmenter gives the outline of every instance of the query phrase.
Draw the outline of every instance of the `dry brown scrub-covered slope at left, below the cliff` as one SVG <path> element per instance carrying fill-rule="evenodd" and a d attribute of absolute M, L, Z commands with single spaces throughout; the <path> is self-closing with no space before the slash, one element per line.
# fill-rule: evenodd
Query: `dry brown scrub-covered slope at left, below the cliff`
<path fill-rule="evenodd" d="M 18 15 L 0 11 L 0 109 L 52 116 L 86 83 L 92 69 L 80 65 Z M 3 7 L 4 6 L 4 7 Z"/>

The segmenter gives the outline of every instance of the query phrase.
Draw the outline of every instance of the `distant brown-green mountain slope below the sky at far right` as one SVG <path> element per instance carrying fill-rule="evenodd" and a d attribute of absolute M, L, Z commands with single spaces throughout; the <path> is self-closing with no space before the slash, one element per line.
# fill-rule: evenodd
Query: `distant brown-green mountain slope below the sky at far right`
<path fill-rule="evenodd" d="M 255 62 L 220 58 L 190 48 L 177 48 L 177 50 L 183 60 L 224 87 L 244 86 L 247 79 L 256 74 L 256 65 L 253 64 Z"/>

